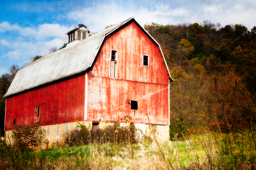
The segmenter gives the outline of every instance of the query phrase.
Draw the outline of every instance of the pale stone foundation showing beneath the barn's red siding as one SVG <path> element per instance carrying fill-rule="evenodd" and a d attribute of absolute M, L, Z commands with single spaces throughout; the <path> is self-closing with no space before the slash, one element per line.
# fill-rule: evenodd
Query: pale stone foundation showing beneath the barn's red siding
<path fill-rule="evenodd" d="M 93 122 L 92 121 L 81 121 L 80 124 L 86 125 L 87 128 L 92 129 Z M 108 123 L 111 124 L 111 123 Z M 108 126 L 105 122 L 100 122 L 98 124 L 99 128 L 104 128 Z M 68 133 L 75 128 L 78 128 L 79 124 L 76 122 L 66 123 L 66 124 L 57 124 L 57 125 L 48 125 L 41 126 L 42 129 L 46 131 L 46 140 L 49 141 L 48 146 L 51 147 L 52 143 L 60 142 L 62 140 L 63 135 Z M 128 123 L 121 123 L 121 126 L 127 126 Z M 134 124 L 135 128 L 141 129 L 144 134 L 152 134 L 152 131 L 155 132 L 155 136 L 159 141 L 168 141 L 169 140 L 169 126 L 164 125 L 152 125 L 152 124 Z M 12 131 L 5 131 L 5 138 L 7 140 L 11 139 Z"/>

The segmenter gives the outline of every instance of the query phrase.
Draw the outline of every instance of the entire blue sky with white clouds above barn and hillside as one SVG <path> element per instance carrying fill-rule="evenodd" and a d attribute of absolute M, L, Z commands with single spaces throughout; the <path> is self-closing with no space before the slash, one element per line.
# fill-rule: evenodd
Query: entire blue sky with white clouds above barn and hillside
<path fill-rule="evenodd" d="M 83 23 L 91 32 L 103 30 L 130 17 L 140 25 L 202 23 L 225 25 L 240 23 L 256 26 L 255 0 L 1 0 L 0 76 L 11 65 L 22 65 L 30 58 L 45 56 L 51 47 L 67 42 L 68 31 Z"/>

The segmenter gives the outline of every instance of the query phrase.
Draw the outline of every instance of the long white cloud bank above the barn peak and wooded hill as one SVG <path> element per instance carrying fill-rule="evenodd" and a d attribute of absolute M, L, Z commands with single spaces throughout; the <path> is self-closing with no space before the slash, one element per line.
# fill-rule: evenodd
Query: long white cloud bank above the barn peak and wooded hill
<path fill-rule="evenodd" d="M 108 25 L 132 16 L 144 23 L 159 24 L 201 23 L 204 20 L 220 22 L 222 26 L 241 23 L 248 29 L 254 26 L 255 1 L 150 1 L 151 5 L 132 8 L 122 3 L 99 3 L 67 14 L 71 20 L 82 22 L 91 31 L 100 31 Z M 137 3 L 139 4 L 139 3 Z M 149 6 L 149 7 L 148 7 Z"/>

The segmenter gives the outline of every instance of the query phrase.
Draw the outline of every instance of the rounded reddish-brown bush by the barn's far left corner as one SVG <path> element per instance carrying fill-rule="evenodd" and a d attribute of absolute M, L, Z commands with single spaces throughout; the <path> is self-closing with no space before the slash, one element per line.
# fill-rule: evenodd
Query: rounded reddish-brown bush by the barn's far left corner
<path fill-rule="evenodd" d="M 33 150 L 44 145 L 46 131 L 38 125 L 15 126 L 12 130 L 12 140 L 16 148 L 24 150 Z"/>

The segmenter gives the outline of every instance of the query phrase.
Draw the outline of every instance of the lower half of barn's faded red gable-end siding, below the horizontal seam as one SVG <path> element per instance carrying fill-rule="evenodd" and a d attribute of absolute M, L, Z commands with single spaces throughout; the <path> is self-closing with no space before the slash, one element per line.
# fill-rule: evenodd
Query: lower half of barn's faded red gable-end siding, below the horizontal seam
<path fill-rule="evenodd" d="M 168 85 L 92 76 L 88 85 L 89 120 L 117 121 L 130 116 L 135 123 L 168 125 Z M 131 101 L 138 101 L 135 114 Z"/>

